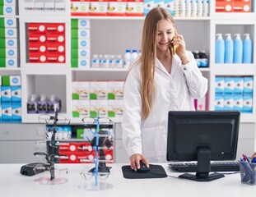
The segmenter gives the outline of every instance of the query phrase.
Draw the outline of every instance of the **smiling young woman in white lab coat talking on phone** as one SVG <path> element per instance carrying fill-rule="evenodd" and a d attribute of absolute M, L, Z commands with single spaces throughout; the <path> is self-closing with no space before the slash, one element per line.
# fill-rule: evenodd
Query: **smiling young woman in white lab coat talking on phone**
<path fill-rule="evenodd" d="M 147 14 L 142 54 L 129 69 L 123 88 L 123 144 L 136 171 L 141 160 L 147 166 L 166 162 L 168 112 L 195 110 L 193 99 L 207 93 L 207 79 L 176 33 L 170 12 L 161 7 Z"/>

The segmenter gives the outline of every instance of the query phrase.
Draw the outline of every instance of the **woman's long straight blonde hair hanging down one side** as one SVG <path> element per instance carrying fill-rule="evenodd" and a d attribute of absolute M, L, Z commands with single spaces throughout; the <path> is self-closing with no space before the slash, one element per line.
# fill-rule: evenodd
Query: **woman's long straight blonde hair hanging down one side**
<path fill-rule="evenodd" d="M 155 98 L 155 66 L 156 66 L 156 35 L 159 21 L 175 21 L 169 11 L 162 7 L 151 9 L 147 13 L 142 31 L 142 119 L 146 119 L 151 112 L 151 104 Z"/>

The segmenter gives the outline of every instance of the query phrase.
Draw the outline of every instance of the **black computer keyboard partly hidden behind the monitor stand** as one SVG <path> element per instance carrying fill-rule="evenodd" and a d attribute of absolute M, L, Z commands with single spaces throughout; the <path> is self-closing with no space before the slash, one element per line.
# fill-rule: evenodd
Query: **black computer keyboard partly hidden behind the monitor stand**
<path fill-rule="evenodd" d="M 198 163 L 169 163 L 169 167 L 177 172 L 197 172 Z M 211 172 L 238 172 L 238 162 L 216 162 L 211 163 Z"/>

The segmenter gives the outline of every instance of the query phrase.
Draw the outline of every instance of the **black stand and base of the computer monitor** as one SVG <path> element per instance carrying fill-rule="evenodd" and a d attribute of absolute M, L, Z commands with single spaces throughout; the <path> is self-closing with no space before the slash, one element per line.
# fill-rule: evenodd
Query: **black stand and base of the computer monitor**
<path fill-rule="evenodd" d="M 184 173 L 179 176 L 179 178 L 189 179 L 192 181 L 213 181 L 224 177 L 223 174 L 211 173 L 210 172 L 211 163 L 211 149 L 207 147 L 198 148 L 198 172 L 196 175 L 189 173 Z"/>

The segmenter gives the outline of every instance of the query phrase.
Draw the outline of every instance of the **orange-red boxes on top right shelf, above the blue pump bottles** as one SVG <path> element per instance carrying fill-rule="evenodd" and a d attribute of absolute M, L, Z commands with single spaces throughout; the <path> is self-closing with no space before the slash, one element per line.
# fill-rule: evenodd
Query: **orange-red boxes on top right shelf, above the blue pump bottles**
<path fill-rule="evenodd" d="M 216 12 L 252 12 L 252 0 L 216 0 Z"/>

